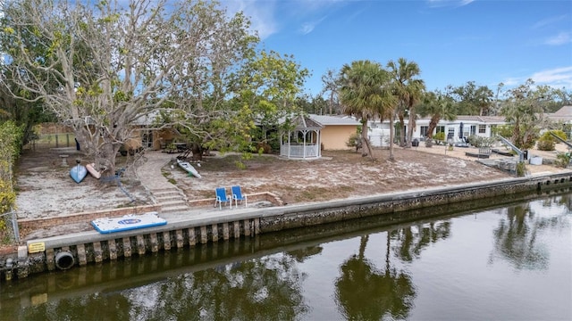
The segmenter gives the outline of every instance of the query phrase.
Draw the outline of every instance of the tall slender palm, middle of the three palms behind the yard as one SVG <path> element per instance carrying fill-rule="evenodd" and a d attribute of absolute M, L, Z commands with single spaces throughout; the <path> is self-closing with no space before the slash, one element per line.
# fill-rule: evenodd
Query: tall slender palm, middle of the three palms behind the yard
<path fill-rule="evenodd" d="M 394 95 L 399 100 L 401 128 L 403 128 L 404 115 L 408 113 L 407 147 L 411 147 L 411 136 L 413 136 L 413 129 L 416 125 L 415 105 L 421 100 L 425 82 L 416 78 L 421 73 L 416 62 L 408 62 L 407 59 L 400 58 L 397 63 L 388 62 L 387 68 L 391 73 Z M 401 139 L 403 143 L 403 138 Z"/>

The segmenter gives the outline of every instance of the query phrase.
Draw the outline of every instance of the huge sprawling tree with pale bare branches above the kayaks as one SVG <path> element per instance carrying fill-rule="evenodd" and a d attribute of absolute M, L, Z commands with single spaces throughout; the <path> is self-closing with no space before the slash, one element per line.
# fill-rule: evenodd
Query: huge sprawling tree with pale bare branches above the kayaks
<path fill-rule="evenodd" d="M 193 130 L 193 124 L 224 114 L 224 104 L 214 102 L 224 95 L 225 75 L 253 53 L 258 40 L 241 13 L 229 18 L 216 3 L 121 4 L 23 0 L 4 5 L 9 59 L 3 83 L 22 88 L 14 96 L 42 101 L 110 173 L 140 116 L 179 109 Z"/>

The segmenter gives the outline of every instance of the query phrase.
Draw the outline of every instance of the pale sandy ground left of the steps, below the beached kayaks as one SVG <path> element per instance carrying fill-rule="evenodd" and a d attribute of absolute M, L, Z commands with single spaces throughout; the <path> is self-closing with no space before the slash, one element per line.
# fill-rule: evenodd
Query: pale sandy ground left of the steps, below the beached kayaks
<path fill-rule="evenodd" d="M 63 166 L 60 154 L 68 154 Z M 116 182 L 102 183 L 86 177 L 80 184 L 70 177 L 70 168 L 82 155 L 73 149 L 25 150 L 15 170 L 18 218 L 49 218 L 88 210 L 114 209 L 133 203 L 149 203 L 144 186 L 128 172 L 122 179 L 123 193 Z M 83 161 L 82 163 L 85 163 Z"/>

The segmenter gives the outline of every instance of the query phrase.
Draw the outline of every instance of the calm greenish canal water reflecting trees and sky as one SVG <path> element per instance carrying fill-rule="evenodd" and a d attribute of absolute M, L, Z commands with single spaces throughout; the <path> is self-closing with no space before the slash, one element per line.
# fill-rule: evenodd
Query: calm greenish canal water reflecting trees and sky
<path fill-rule="evenodd" d="M 0 317 L 571 320 L 572 193 L 483 203 L 4 281 Z"/>

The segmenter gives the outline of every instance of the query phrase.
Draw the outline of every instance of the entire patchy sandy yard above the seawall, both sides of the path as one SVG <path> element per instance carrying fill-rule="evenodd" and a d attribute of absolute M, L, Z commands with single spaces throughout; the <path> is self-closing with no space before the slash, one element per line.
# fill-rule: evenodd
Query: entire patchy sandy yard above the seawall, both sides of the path
<path fill-rule="evenodd" d="M 557 144 L 557 152 L 566 152 Z M 69 166 L 63 167 L 59 154 L 71 153 Z M 198 168 L 203 178 L 188 177 L 176 166 L 157 168 L 183 190 L 189 200 L 214 197 L 214 188 L 241 185 L 246 193 L 272 192 L 285 203 L 320 202 L 332 199 L 391 193 L 509 177 L 468 157 L 465 152 L 475 149 L 444 146 L 403 149 L 395 148 L 395 161 L 388 161 L 389 151 L 375 150 L 372 161 L 352 151 L 324 151 L 324 157 L 315 161 L 289 161 L 276 156 L 254 157 L 245 161 L 246 169 L 237 167 L 237 155 L 205 157 Z M 557 152 L 531 151 L 533 155 L 555 158 Z M 156 152 L 154 157 L 169 161 L 174 154 Z M 134 169 L 140 161 L 127 158 L 122 161 L 127 171 L 122 177 L 121 189 L 116 183 L 102 183 L 86 177 L 76 184 L 69 177 L 75 158 L 73 151 L 24 151 L 16 169 L 18 218 L 47 218 L 65 216 L 88 210 L 114 209 L 127 204 L 150 204 L 152 200 Z M 151 157 L 151 156 L 149 156 Z M 503 156 L 492 155 L 492 158 Z M 549 165 L 527 165 L 532 174 L 556 172 L 562 169 Z M 163 178 L 163 177 L 161 177 Z M 166 179 L 166 178 L 165 178 Z M 125 193 L 125 192 L 127 193 Z M 129 194 L 129 195 L 128 195 Z M 134 202 L 133 202 L 134 200 Z"/>

